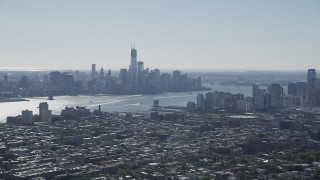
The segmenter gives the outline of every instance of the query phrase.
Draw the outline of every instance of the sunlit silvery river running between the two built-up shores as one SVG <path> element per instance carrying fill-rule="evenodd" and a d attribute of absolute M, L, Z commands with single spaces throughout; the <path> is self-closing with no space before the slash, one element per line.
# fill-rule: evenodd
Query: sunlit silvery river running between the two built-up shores
<path fill-rule="evenodd" d="M 207 85 L 210 91 L 161 93 L 156 95 L 80 95 L 80 96 L 56 96 L 49 101 L 46 97 L 27 98 L 29 101 L 0 103 L 0 122 L 5 122 L 7 116 L 21 115 L 22 110 L 32 110 L 33 114 L 39 114 L 40 102 L 48 102 L 53 114 L 60 114 L 66 106 L 87 106 L 91 110 L 98 109 L 107 112 L 147 112 L 153 105 L 153 100 L 158 99 L 160 106 L 186 106 L 188 101 L 196 102 L 198 93 L 212 92 L 214 90 L 243 93 L 252 96 L 252 86 L 223 86 Z"/>

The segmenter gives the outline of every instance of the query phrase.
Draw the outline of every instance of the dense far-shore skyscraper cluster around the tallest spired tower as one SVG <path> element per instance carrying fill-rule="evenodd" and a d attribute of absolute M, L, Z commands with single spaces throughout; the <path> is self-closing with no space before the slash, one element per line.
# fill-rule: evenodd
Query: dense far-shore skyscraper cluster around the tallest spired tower
<path fill-rule="evenodd" d="M 129 69 L 120 69 L 118 92 L 156 93 L 161 91 L 187 91 L 201 89 L 201 77 L 192 79 L 187 74 L 175 70 L 172 76 L 160 73 L 159 69 L 144 68 L 142 61 L 137 61 L 137 50 L 131 49 Z"/>

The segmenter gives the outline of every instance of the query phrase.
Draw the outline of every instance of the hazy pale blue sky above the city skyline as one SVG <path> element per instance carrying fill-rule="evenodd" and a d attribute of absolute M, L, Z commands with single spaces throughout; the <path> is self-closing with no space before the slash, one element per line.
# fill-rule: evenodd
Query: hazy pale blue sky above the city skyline
<path fill-rule="evenodd" d="M 320 67 L 319 0 L 0 0 L 0 67 Z"/>

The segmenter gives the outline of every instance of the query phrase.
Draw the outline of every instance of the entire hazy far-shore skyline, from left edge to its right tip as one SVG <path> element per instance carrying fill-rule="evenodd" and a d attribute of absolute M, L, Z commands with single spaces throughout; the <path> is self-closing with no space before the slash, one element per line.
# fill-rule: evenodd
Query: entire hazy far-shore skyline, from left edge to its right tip
<path fill-rule="evenodd" d="M 20 73 L 21 74 L 21 73 Z M 4 75 L 0 81 L 0 99 L 12 97 L 78 95 L 78 94 L 148 94 L 164 91 L 193 91 L 206 89 L 201 86 L 201 77 L 191 78 L 181 71 L 172 74 L 161 73 L 159 69 L 150 70 L 137 59 L 137 50 L 131 49 L 129 68 L 120 69 L 119 74 L 105 72 L 92 64 L 91 72 L 51 71 L 38 75 Z"/>

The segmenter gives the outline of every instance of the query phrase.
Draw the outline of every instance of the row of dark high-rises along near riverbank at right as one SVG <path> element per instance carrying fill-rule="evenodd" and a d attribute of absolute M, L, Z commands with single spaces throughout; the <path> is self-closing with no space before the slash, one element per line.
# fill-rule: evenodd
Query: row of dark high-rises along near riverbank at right
<path fill-rule="evenodd" d="M 252 97 L 229 92 L 208 92 L 198 94 L 197 103 L 189 102 L 189 111 L 226 110 L 228 112 L 246 112 L 252 109 L 265 111 L 289 106 L 318 106 L 320 105 L 320 79 L 316 70 L 309 69 L 307 82 L 288 84 L 288 94 L 280 84 L 271 84 L 266 89 L 258 85 L 252 87 Z"/>

